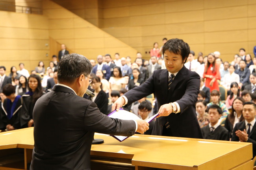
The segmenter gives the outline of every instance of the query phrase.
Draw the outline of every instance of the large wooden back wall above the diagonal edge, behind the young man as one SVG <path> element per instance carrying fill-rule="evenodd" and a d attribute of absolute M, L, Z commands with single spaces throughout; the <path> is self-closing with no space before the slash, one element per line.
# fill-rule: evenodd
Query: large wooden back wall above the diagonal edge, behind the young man
<path fill-rule="evenodd" d="M 54 0 L 65 8 L 87 13 L 86 0 Z M 253 54 L 256 45 L 255 0 L 98 0 L 91 16 L 83 17 L 122 42 L 149 56 L 154 42 L 182 38 L 205 55 L 220 51 L 231 61 L 239 48 Z M 71 5 L 72 4 L 72 5 Z M 145 53 L 147 52 L 147 53 Z"/>

